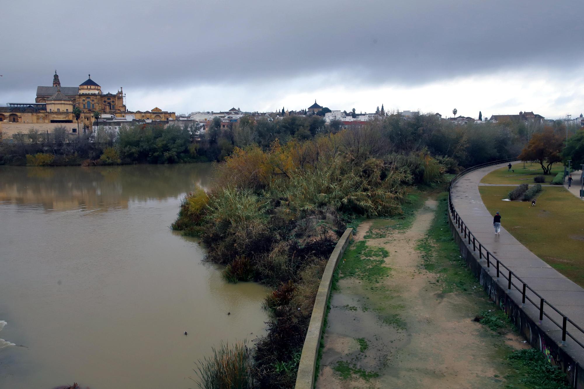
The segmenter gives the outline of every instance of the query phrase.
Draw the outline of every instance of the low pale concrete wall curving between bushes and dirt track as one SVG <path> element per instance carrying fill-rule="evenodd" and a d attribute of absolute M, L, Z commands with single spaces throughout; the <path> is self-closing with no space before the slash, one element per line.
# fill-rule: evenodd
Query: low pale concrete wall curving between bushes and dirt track
<path fill-rule="evenodd" d="M 318 348 L 321 343 L 322 325 L 326 315 L 326 303 L 329 293 L 331 293 L 332 276 L 335 273 L 336 265 L 338 265 L 345 249 L 349 245 L 352 235 L 353 228 L 347 228 L 337 242 L 331 257 L 326 263 L 325 271 L 322 273 L 321 284 L 318 287 L 317 298 L 314 300 L 314 308 L 312 308 L 310 324 L 308 324 L 308 332 L 304 339 L 300 363 L 298 364 L 296 389 L 312 389 L 314 387 Z"/>

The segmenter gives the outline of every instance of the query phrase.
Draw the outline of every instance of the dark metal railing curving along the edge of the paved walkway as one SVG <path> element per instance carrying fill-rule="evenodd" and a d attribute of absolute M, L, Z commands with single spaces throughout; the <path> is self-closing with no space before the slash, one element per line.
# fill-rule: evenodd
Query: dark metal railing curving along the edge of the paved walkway
<path fill-rule="evenodd" d="M 478 241 L 478 239 L 475 237 L 475 235 L 470 230 L 468 230 L 467 225 L 464 223 L 464 221 L 462 220 L 462 218 L 460 217 L 460 215 L 458 214 L 458 212 L 454 208 L 454 204 L 452 202 L 452 196 L 451 196 L 451 189 L 452 189 L 452 186 L 454 185 L 454 183 L 459 178 L 461 178 L 462 176 L 464 176 L 467 173 L 470 173 L 470 172 L 475 171 L 475 170 L 480 169 L 480 168 L 484 168 L 486 166 L 499 165 L 499 164 L 504 164 L 506 162 L 512 162 L 512 161 L 517 161 L 517 158 L 502 159 L 500 161 L 488 162 L 486 164 L 472 166 L 471 168 L 465 169 L 464 171 L 462 171 L 462 172 L 458 173 L 456 176 L 454 176 L 454 178 L 452 180 L 450 180 L 450 185 L 448 188 L 448 191 L 449 191 L 448 203 L 449 203 L 449 209 L 450 209 L 450 216 L 452 217 L 453 223 L 457 226 L 457 230 L 459 230 L 460 236 L 463 238 L 464 242 L 467 242 L 467 239 L 468 239 L 468 245 L 469 246 L 472 245 L 472 251 L 476 252 L 478 249 L 479 261 L 481 261 L 483 258 L 485 258 L 486 267 L 489 269 L 491 268 L 491 265 L 495 265 L 496 277 L 497 277 L 497 279 L 499 279 L 499 277 L 502 276 L 503 279 L 505 279 L 507 281 L 507 291 L 508 292 L 510 292 L 512 290 L 512 288 L 514 287 L 517 291 L 519 291 L 522 294 L 522 307 L 525 306 L 526 301 L 529 301 L 529 303 L 531 303 L 539 311 L 540 324 L 543 323 L 543 319 L 545 316 L 548 319 L 550 319 L 550 321 L 553 324 L 555 324 L 559 329 L 561 329 L 562 330 L 562 345 L 566 344 L 566 335 L 567 335 L 570 338 L 572 338 L 572 340 L 574 342 L 576 342 L 580 347 L 584 348 L 584 345 L 580 341 L 578 341 L 578 339 L 574 338 L 574 336 L 572 336 L 572 334 L 570 334 L 570 332 L 568 331 L 568 323 L 573 325 L 573 327 L 575 329 L 577 329 L 581 335 L 584 335 L 584 330 L 582 328 L 580 328 L 580 326 L 578 324 L 576 324 L 570 318 L 568 318 L 566 315 L 564 315 L 561 311 L 559 311 L 558 308 L 554 307 L 554 305 L 548 303 L 548 301 L 545 301 L 545 298 L 543 298 L 539 293 L 537 293 L 537 291 L 533 290 L 520 277 L 518 277 L 516 274 L 513 274 L 512 270 L 507 268 L 507 266 L 505 266 L 505 264 L 503 264 L 501 261 L 499 261 L 499 259 L 497 259 L 496 256 L 494 256 L 490 251 L 488 251 L 488 249 L 486 249 L 485 246 L 482 245 L 481 242 Z M 501 268 L 503 268 L 504 270 L 502 270 Z M 514 280 L 516 282 L 513 282 Z M 517 283 L 519 283 L 519 285 Z M 531 291 L 531 293 L 533 293 L 534 296 L 537 297 L 534 299 L 536 301 L 532 300 L 529 296 L 527 296 L 527 290 Z M 537 300 L 537 299 L 539 299 L 539 300 Z M 553 318 L 551 318 L 550 315 L 548 315 L 548 313 L 545 312 L 545 309 L 544 309 L 545 307 L 549 307 L 552 310 L 554 310 L 555 312 L 557 312 L 558 315 L 562 318 L 562 323 L 559 324 L 557 321 L 555 321 Z"/>

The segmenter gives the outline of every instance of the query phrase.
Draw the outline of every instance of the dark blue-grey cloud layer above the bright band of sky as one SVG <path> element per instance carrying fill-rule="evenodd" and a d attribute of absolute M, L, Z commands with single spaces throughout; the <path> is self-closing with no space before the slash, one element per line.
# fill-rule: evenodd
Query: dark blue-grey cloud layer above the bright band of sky
<path fill-rule="evenodd" d="M 50 85 L 278 82 L 413 85 L 522 66 L 580 65 L 582 1 L 13 1 L 0 96 Z M 13 16 L 10 16 L 13 15 Z M 108 89 L 108 88 L 106 88 Z M 4 102 L 4 101 L 3 101 Z"/>

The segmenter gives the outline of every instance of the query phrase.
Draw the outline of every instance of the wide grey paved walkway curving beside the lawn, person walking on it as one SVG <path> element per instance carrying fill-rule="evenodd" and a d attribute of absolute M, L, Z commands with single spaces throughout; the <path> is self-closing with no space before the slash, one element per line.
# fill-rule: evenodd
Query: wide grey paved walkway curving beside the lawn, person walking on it
<path fill-rule="evenodd" d="M 504 227 L 501 228 L 499 236 L 494 234 L 493 216 L 486 209 L 485 204 L 482 203 L 478 183 L 486 174 L 502 166 L 505 166 L 505 164 L 488 166 L 458 179 L 451 190 L 454 207 L 464 223 L 467 224 L 468 229 L 499 261 L 521 277 L 537 293 L 541 294 L 546 301 L 553 304 L 580 327 L 584 327 L 584 289 L 538 258 L 517 239 L 513 238 Z M 575 173 L 572 173 L 572 177 L 575 178 Z M 578 179 L 576 189 L 579 189 L 579 184 Z M 502 225 L 505 225 L 505 215 L 503 215 Z M 472 245 L 470 249 L 472 250 Z M 560 245 L 558 245 L 558 249 L 561 249 Z M 490 271 L 495 273 L 495 269 L 492 267 Z M 507 281 L 500 277 L 499 282 L 502 285 L 506 285 Z M 521 302 L 521 293 L 515 288 L 510 293 L 510 296 L 515 301 Z M 533 301 L 539 300 L 529 291 L 527 296 Z M 526 303 L 526 311 L 533 318 L 537 319 L 539 317 L 538 309 L 529 304 L 529 302 Z M 562 318 L 555 311 L 551 308 L 547 308 L 544 311 L 561 324 Z M 550 334 L 555 333 L 557 335 L 555 339 L 561 339 L 561 329 L 558 329 L 548 318 L 544 317 L 542 328 L 549 329 Z M 578 335 L 576 336 L 578 341 L 584 343 L 584 335 L 581 335 L 571 324 L 568 324 L 568 332 L 574 336 Z M 570 354 L 576 360 L 584 362 L 584 349 L 569 338 L 566 349 L 571 350 Z"/>

